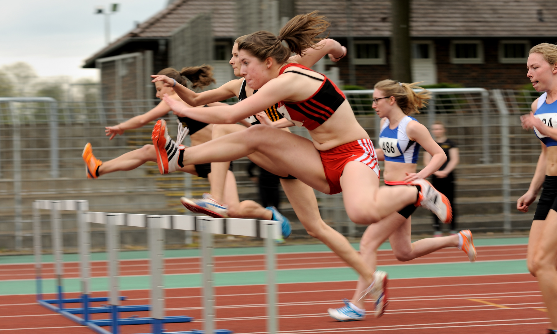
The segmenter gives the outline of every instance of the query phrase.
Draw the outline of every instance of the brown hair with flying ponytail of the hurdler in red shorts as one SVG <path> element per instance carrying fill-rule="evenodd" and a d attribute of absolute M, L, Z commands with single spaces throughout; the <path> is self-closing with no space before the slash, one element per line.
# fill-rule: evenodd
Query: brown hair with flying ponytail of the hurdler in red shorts
<path fill-rule="evenodd" d="M 238 44 L 238 50 L 247 50 L 261 61 L 273 57 L 278 63 L 285 63 L 292 52 L 301 56 L 304 50 L 327 38 L 317 36 L 325 32 L 330 25 L 326 17 L 318 15 L 317 11 L 297 15 L 282 27 L 278 36 L 268 31 L 251 33 Z M 288 47 L 282 45 L 282 41 L 285 41 Z"/>

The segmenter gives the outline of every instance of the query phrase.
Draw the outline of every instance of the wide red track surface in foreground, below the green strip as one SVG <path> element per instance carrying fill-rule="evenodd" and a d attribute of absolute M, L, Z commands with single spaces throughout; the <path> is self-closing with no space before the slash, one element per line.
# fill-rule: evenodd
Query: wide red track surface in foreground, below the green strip
<path fill-rule="evenodd" d="M 340 299 L 350 298 L 354 286 L 351 282 L 281 284 L 278 296 L 281 333 L 543 333 L 548 321 L 538 286 L 529 274 L 395 279 L 390 281 L 391 303 L 383 317 L 369 315 L 364 321 L 333 321 L 326 309 L 340 307 Z M 191 323 L 168 324 L 168 331 L 203 327 L 199 321 L 202 311 L 199 288 L 167 289 L 166 293 L 167 315 L 196 318 Z M 125 294 L 130 300 L 124 304 L 148 303 L 148 291 Z M 217 328 L 244 334 L 266 331 L 264 286 L 217 287 L 216 294 Z M 72 295 L 76 294 L 67 294 Z M 2 334 L 92 333 L 38 306 L 34 296 L 0 296 L 0 312 Z M 144 325 L 120 328 L 124 334 L 149 332 Z"/>

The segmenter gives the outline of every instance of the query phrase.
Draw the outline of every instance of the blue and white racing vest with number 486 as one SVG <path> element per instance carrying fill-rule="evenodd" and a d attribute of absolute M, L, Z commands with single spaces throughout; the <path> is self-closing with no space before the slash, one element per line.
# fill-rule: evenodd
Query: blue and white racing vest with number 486
<path fill-rule="evenodd" d="M 410 121 L 416 121 L 416 119 L 405 116 L 394 129 L 389 129 L 389 119 L 383 123 L 381 132 L 379 132 L 379 147 L 383 150 L 385 161 L 407 164 L 418 162 L 420 146 L 416 141 L 410 140 L 406 133 L 406 127 Z"/>

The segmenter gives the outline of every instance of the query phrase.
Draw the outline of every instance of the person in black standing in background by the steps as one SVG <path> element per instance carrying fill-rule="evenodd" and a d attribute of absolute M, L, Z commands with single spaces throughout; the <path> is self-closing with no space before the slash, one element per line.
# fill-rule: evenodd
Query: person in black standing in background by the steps
<path fill-rule="evenodd" d="M 458 233 L 456 230 L 456 214 L 455 214 L 455 175 L 453 170 L 455 170 L 456 165 L 460 160 L 458 156 L 458 148 L 455 143 L 447 138 L 445 125 L 441 121 L 434 121 L 431 125 L 431 132 L 433 134 L 433 139 L 441 146 L 445 154 L 447 155 L 447 161 L 439 168 L 438 171 L 431 175 L 431 184 L 439 190 L 443 195 L 445 195 L 449 202 L 451 202 L 453 208 L 453 217 L 450 222 L 451 224 L 451 235 Z M 423 155 L 423 164 L 426 166 L 431 160 L 431 155 L 425 152 Z M 441 237 L 443 232 L 441 232 L 441 225 L 439 224 L 439 219 L 436 215 L 433 215 L 433 229 L 434 237 Z"/>

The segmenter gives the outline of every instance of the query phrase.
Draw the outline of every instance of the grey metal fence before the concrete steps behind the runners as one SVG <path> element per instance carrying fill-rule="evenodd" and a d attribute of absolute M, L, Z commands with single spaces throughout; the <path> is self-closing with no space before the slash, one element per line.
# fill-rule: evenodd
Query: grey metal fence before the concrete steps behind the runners
<path fill-rule="evenodd" d="M 453 204 L 459 227 L 506 232 L 529 228 L 532 214 L 516 212 L 512 203 L 527 189 L 540 145 L 531 132 L 521 129 L 518 116 L 530 110 L 539 94 L 484 89 L 430 91 L 431 103 L 414 117 L 428 126 L 435 120 L 443 121 L 448 137 L 460 149 Z M 360 124 L 372 140 L 377 139 L 379 119 L 372 109 L 373 91 L 345 93 Z M 175 214 L 184 211 L 178 200 L 184 192 L 199 196 L 207 191 L 206 179 L 183 173 L 160 175 L 156 163 L 97 180 L 86 179 L 81 159 L 84 145 L 90 142 L 97 158 L 105 161 L 149 144 L 150 126 L 126 131 L 111 141 L 104 135 L 104 127 L 143 114 L 157 102 L 0 99 L 0 248 L 31 243 L 31 202 L 38 197 L 87 199 L 92 210 Z M 170 121 L 174 116 L 166 118 Z M 174 135 L 175 130 L 170 130 Z M 308 136 L 303 128 L 291 130 Z M 257 187 L 247 177 L 246 164 L 247 159 L 240 159 L 234 166 L 240 197 L 257 199 Z M 326 222 L 343 233 L 361 232 L 346 217 L 341 194 L 318 193 L 318 199 Z M 295 219 L 286 199 L 281 210 Z M 430 223 L 429 213 L 418 210 L 413 215 L 414 232 L 429 230 Z M 69 235 L 72 226 L 69 220 Z"/>

